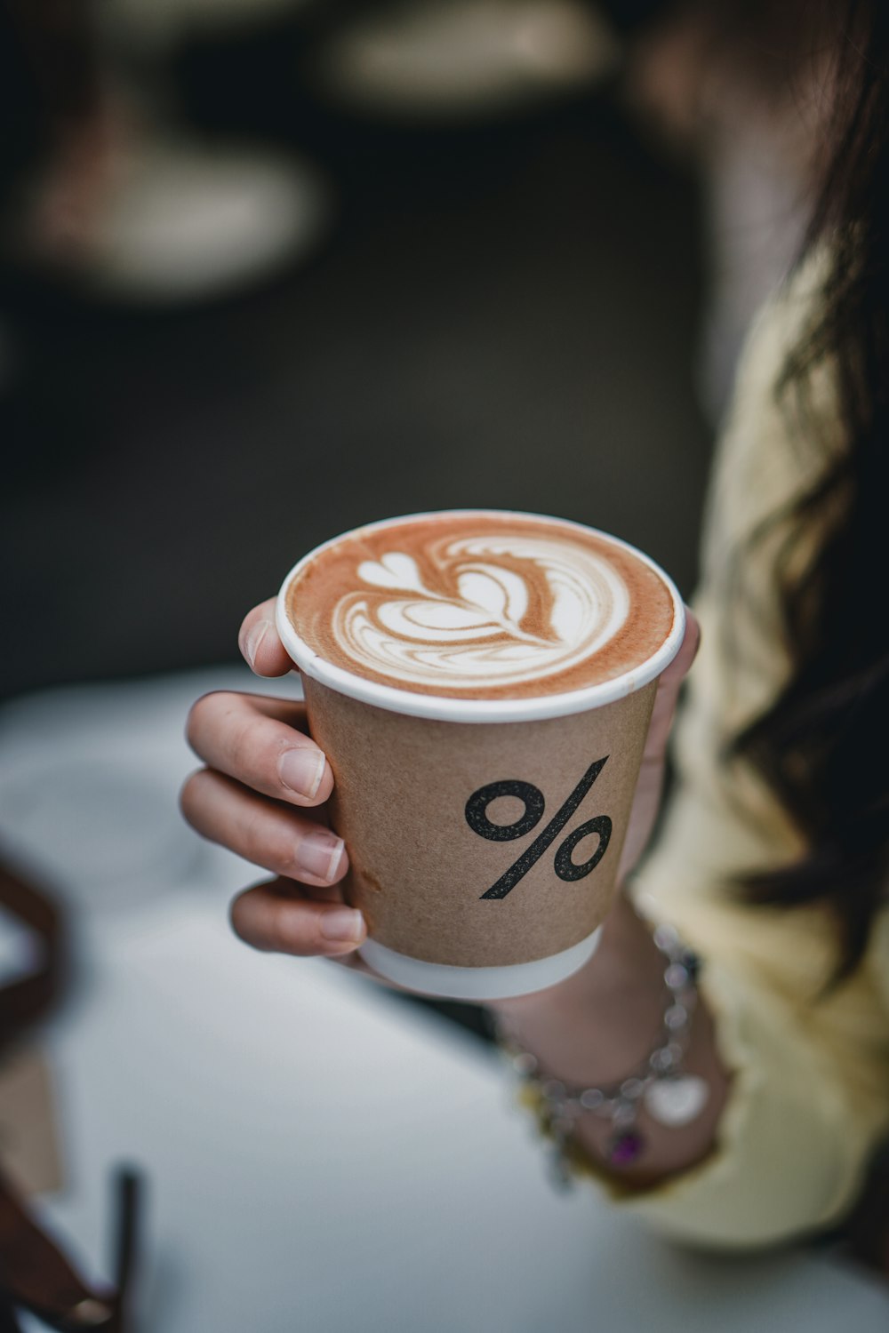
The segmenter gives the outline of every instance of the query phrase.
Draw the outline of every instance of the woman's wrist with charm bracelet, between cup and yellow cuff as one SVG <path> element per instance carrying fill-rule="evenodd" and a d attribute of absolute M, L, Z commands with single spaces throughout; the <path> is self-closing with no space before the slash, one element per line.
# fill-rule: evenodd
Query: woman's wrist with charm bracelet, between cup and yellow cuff
<path fill-rule="evenodd" d="M 648 1001 L 636 1002 L 649 990 L 642 938 L 656 958 L 656 1026 L 649 1025 Z M 510 1006 L 500 1022 L 501 1046 L 525 1085 L 525 1105 L 552 1144 L 561 1184 L 584 1162 L 634 1184 L 686 1169 L 709 1152 L 726 1094 L 709 1016 L 697 1013 L 693 950 L 673 926 L 661 924 L 649 933 L 626 914 L 614 921 L 609 941 L 612 962 L 642 962 L 641 978 L 632 974 L 636 984 L 624 977 L 617 990 L 612 984 L 602 994 L 585 985 L 574 996 L 581 1008 L 560 1005 L 568 988 L 554 988 L 534 1008 Z M 612 969 L 613 978 L 620 976 L 620 966 Z M 596 1009 L 584 1009 L 584 1001 Z M 645 1029 L 634 1009 L 648 1010 Z M 648 1037 L 640 1041 L 642 1030 Z"/>

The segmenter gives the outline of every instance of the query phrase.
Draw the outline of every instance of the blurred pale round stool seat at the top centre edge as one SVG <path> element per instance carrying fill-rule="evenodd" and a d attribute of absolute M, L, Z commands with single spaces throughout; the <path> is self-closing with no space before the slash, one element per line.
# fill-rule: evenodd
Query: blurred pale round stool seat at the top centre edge
<path fill-rule="evenodd" d="M 319 63 L 325 89 L 360 109 L 462 117 L 586 88 L 617 55 L 580 0 L 429 0 L 356 19 Z"/>

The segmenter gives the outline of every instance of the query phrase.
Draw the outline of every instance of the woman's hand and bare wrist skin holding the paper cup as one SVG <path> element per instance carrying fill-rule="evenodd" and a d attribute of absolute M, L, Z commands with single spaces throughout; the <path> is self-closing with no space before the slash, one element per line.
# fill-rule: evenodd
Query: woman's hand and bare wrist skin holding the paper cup
<path fill-rule="evenodd" d="M 621 876 L 632 869 L 654 825 L 666 738 L 697 640 L 697 623 L 689 616 L 682 648 L 658 684 Z M 293 666 L 275 629 L 273 601 L 249 613 L 240 645 L 257 676 L 283 676 Z M 320 954 L 368 972 L 355 953 L 365 936 L 364 920 L 343 902 L 339 888 L 348 866 L 345 849 L 324 820 L 333 776 L 307 736 L 303 704 L 257 694 L 207 694 L 191 712 L 188 738 L 207 766 L 183 789 L 187 818 L 205 837 L 276 876 L 235 900 L 237 934 L 257 949 Z M 664 960 L 650 932 L 628 900 L 618 897 L 598 949 L 580 972 L 493 1009 L 556 1077 L 612 1084 L 645 1053 L 662 1008 L 662 977 Z M 678 1130 L 644 1120 L 648 1150 L 638 1166 L 621 1168 L 624 1180 L 650 1184 L 685 1170 L 710 1150 L 729 1081 L 704 1005 L 697 1010 L 686 1068 L 710 1089 L 704 1113 Z M 604 1170 L 609 1169 L 610 1133 L 609 1124 L 589 1116 L 577 1129 L 580 1145 Z"/>

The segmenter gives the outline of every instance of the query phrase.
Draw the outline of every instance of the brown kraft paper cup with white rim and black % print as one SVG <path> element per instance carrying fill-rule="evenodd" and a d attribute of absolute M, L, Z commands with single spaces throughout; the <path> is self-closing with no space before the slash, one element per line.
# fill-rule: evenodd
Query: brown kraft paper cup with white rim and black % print
<path fill-rule="evenodd" d="M 464 516 L 468 511 L 449 511 Z M 504 511 L 478 516 L 509 517 Z M 440 515 L 409 515 L 360 533 Z M 514 515 L 581 532 L 580 524 Z M 284 580 L 277 629 L 305 685 L 309 729 L 333 769 L 332 828 L 344 838 L 345 898 L 364 913 L 360 953 L 427 994 L 500 1000 L 554 985 L 593 954 L 608 916 L 654 704 L 685 609 L 646 661 L 585 689 L 538 698 L 452 698 L 381 685 L 303 641 Z"/>

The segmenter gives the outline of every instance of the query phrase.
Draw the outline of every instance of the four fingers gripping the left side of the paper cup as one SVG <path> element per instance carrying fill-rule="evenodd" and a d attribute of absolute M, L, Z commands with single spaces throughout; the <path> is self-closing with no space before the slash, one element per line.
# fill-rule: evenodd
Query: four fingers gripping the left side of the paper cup
<path fill-rule="evenodd" d="M 275 631 L 273 601 L 251 612 L 240 644 L 257 674 L 293 669 Z M 232 904 L 237 934 L 279 953 L 352 953 L 367 929 L 339 888 L 349 862 L 324 814 L 333 774 L 307 734 L 304 704 L 205 694 L 189 713 L 187 734 L 205 766 L 183 788 L 185 818 L 204 837 L 275 874 Z"/>

